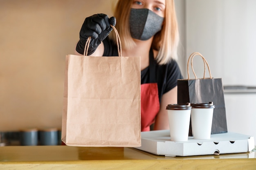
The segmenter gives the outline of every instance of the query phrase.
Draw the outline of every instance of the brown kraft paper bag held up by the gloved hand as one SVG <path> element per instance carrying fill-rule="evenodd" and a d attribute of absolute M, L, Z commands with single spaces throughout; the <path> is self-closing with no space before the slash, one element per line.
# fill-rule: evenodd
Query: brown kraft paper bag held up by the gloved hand
<path fill-rule="evenodd" d="M 141 146 L 140 57 L 122 57 L 116 35 L 119 57 L 66 56 L 61 139 L 68 146 Z"/>

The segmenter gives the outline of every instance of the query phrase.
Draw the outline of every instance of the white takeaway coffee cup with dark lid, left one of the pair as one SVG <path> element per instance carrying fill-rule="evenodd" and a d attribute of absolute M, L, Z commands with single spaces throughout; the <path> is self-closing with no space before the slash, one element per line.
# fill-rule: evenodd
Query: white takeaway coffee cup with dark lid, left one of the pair
<path fill-rule="evenodd" d="M 171 141 L 188 140 L 191 108 L 190 103 L 168 104 L 166 107 L 168 111 Z"/>

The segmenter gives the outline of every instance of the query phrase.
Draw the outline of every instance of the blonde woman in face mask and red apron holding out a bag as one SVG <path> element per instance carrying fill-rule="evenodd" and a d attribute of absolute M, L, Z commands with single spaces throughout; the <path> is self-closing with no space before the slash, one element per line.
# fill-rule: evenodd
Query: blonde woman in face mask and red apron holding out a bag
<path fill-rule="evenodd" d="M 166 106 L 177 103 L 177 79 L 182 79 L 177 59 L 179 33 L 173 0 L 119 0 L 115 17 L 95 14 L 85 19 L 76 54 L 117 56 L 115 26 L 123 56 L 141 57 L 141 131 L 168 129 Z M 116 23 L 117 20 L 117 23 Z M 101 43 L 103 42 L 103 43 Z"/>

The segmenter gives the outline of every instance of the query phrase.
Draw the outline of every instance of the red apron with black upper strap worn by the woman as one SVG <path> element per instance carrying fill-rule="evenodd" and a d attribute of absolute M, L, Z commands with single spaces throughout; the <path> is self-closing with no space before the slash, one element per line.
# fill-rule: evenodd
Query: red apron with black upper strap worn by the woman
<path fill-rule="evenodd" d="M 160 110 L 153 50 L 149 52 L 149 83 L 141 84 L 141 131 L 149 131 Z"/>

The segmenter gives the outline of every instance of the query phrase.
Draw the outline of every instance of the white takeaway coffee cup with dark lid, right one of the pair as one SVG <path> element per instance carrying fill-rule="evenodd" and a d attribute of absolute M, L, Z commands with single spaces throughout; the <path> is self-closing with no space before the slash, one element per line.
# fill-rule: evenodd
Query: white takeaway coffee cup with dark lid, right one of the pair
<path fill-rule="evenodd" d="M 191 126 L 194 139 L 210 139 L 213 102 L 191 104 Z"/>

